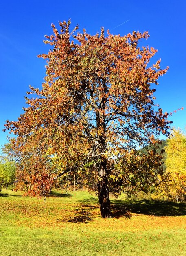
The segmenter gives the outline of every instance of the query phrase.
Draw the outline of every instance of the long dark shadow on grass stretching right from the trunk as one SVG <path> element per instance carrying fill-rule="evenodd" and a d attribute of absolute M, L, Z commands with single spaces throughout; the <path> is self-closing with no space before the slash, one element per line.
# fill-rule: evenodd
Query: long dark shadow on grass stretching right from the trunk
<path fill-rule="evenodd" d="M 153 216 L 186 215 L 185 203 L 158 200 L 112 200 L 112 216 L 129 217 L 131 213 Z"/>

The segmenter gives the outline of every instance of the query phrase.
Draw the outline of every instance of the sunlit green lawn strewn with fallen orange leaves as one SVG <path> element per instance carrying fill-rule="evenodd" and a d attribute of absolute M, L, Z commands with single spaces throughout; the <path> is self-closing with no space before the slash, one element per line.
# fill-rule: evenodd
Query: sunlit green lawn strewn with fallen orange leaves
<path fill-rule="evenodd" d="M 101 219 L 87 191 L 0 194 L 0 256 L 185 256 L 186 204 L 112 198 Z"/>

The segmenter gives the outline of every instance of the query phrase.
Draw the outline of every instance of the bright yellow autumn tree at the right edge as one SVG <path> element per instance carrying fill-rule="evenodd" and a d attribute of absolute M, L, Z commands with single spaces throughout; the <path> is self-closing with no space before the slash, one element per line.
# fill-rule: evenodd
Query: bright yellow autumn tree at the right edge
<path fill-rule="evenodd" d="M 186 135 L 180 129 L 173 129 L 166 151 L 166 183 L 162 192 L 171 200 L 186 201 Z"/>

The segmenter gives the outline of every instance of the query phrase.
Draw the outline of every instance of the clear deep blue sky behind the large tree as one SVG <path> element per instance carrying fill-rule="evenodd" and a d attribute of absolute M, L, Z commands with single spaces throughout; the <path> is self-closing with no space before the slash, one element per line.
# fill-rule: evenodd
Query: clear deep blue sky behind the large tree
<path fill-rule="evenodd" d="M 154 62 L 170 66 L 156 88 L 157 103 L 173 114 L 173 126 L 186 126 L 186 1 L 185 0 L 2 0 L 0 3 L 0 145 L 7 142 L 2 132 L 5 121 L 15 121 L 23 112 L 28 86 L 41 88 L 45 62 L 37 58 L 47 53 L 44 35 L 52 34 L 50 24 L 72 21 L 88 33 L 105 27 L 112 34 L 149 31 L 142 41 L 158 49 Z M 127 21 L 129 20 L 129 21 Z M 125 22 L 127 21 L 127 22 Z M 123 25 L 123 22 L 125 22 Z"/>

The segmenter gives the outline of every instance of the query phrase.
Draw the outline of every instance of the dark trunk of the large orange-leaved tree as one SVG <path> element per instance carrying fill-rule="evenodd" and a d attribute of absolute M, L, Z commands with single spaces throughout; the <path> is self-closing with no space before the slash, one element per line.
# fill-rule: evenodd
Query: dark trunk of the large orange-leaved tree
<path fill-rule="evenodd" d="M 98 195 L 101 217 L 111 218 L 108 179 L 106 173 L 106 163 L 104 161 L 102 161 L 99 165 Z"/>

